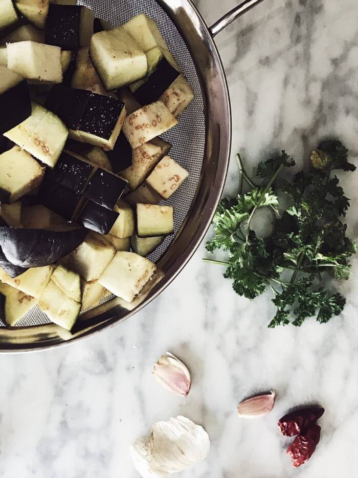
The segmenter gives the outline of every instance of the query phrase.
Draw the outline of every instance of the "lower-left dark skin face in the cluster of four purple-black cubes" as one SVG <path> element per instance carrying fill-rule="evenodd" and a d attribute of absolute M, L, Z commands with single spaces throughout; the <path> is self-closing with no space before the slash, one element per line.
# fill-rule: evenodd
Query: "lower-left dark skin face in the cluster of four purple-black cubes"
<path fill-rule="evenodd" d="M 76 218 L 83 205 L 80 195 L 49 179 L 43 179 L 38 197 L 41 204 L 69 221 Z"/>

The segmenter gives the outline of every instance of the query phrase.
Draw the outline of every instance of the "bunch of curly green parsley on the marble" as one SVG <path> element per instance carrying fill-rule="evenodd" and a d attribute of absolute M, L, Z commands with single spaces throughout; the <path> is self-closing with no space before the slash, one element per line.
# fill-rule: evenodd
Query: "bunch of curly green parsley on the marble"
<path fill-rule="evenodd" d="M 205 262 L 225 265 L 224 276 L 233 280 L 240 296 L 254 299 L 267 287 L 272 290 L 277 312 L 269 327 L 299 326 L 312 316 L 325 323 L 338 316 L 345 299 L 322 284 L 325 274 L 348 279 L 349 259 L 356 252 L 341 220 L 349 199 L 333 176 L 334 170 L 355 170 L 348 162 L 348 150 L 338 140 L 323 141 L 312 152 L 308 173 L 300 171 L 292 180 L 279 181 L 282 171 L 295 165 L 282 151 L 259 163 L 261 185 L 248 176 L 239 155 L 237 161 L 239 194 L 220 201 L 213 220 L 215 235 L 206 245 L 210 253 L 226 251 L 228 260 Z M 251 187 L 244 194 L 243 179 Z M 278 191 L 290 201 L 281 214 Z M 252 221 L 258 210 L 267 207 L 275 216 L 275 230 L 262 238 L 252 228 Z"/>

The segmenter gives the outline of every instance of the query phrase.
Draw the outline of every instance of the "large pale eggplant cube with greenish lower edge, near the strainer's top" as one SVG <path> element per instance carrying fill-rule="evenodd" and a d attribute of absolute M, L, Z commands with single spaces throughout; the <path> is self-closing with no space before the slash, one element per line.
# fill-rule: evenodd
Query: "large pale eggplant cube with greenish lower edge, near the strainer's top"
<path fill-rule="evenodd" d="M 147 75 L 144 51 L 122 27 L 93 35 L 90 53 L 107 91 L 129 85 Z"/>

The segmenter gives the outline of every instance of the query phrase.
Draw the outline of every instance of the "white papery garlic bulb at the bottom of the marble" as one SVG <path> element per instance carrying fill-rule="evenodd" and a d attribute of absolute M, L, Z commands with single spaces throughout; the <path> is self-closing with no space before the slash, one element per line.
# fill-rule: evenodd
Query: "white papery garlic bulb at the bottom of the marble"
<path fill-rule="evenodd" d="M 150 438 L 137 440 L 130 452 L 143 478 L 162 478 L 204 460 L 209 449 L 209 435 L 204 428 L 179 415 L 155 423 Z"/>

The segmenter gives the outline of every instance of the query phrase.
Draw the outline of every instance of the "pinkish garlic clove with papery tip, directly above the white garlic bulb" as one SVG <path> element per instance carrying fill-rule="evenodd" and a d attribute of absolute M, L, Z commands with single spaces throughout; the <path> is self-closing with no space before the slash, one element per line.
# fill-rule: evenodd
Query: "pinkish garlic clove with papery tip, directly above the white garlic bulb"
<path fill-rule="evenodd" d="M 157 382 L 180 397 L 187 397 L 191 377 L 187 366 L 170 352 L 162 355 L 153 365 L 152 373 Z"/>

